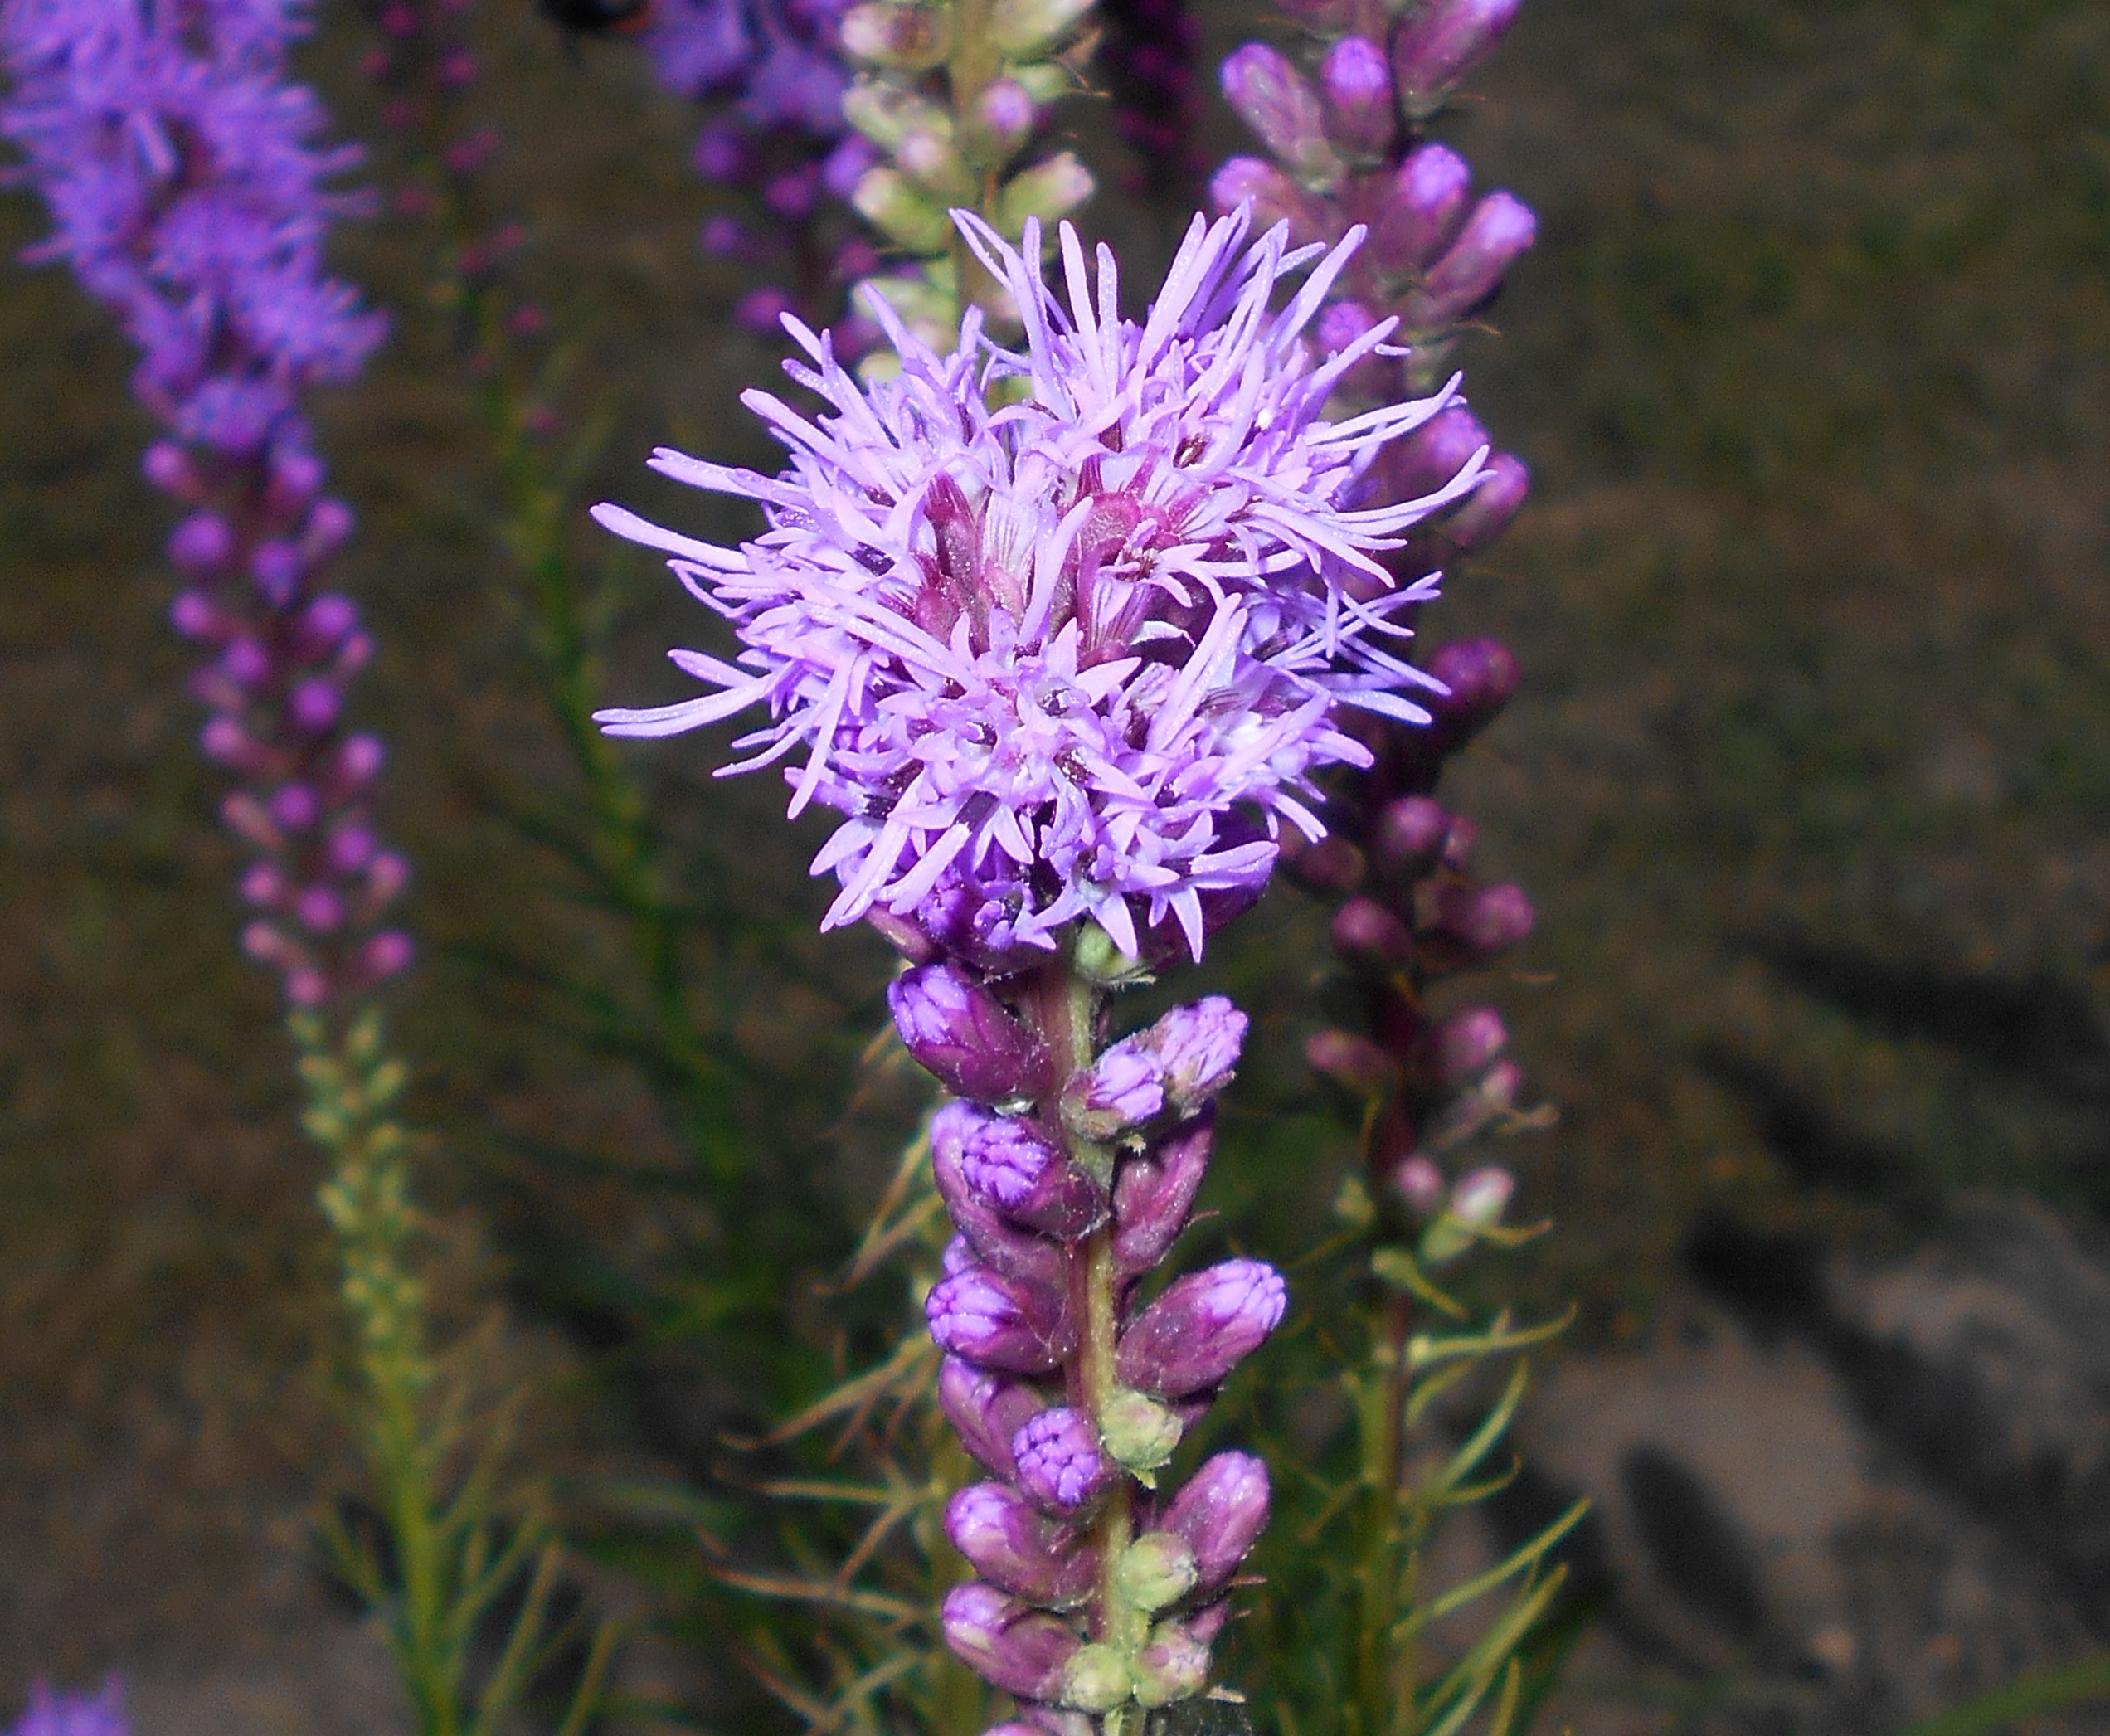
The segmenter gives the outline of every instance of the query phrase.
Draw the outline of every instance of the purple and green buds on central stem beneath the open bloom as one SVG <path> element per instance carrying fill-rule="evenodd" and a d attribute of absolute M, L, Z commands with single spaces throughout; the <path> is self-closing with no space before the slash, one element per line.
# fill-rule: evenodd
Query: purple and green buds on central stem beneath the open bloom
<path fill-rule="evenodd" d="M 966 1099 L 931 1126 L 958 1236 L 924 1312 L 939 1403 L 990 1481 L 945 1510 L 977 1574 L 945 1599 L 945 1643 L 1047 1736 L 1123 1736 L 1207 1690 L 1268 1474 L 1239 1451 L 1177 1489 L 1160 1472 L 1285 1306 L 1255 1259 L 1142 1297 L 1194 1207 L 1245 1015 L 1209 998 L 1108 1044 L 1101 975 L 941 958 L 890 991 L 909 1053 Z"/>

